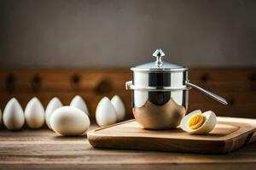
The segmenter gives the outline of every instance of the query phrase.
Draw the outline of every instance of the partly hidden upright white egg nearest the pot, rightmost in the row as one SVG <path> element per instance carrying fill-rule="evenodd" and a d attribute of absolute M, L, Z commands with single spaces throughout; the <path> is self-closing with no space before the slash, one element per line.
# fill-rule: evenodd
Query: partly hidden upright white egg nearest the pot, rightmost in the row
<path fill-rule="evenodd" d="M 125 105 L 118 95 L 114 95 L 111 103 L 116 113 L 117 121 L 122 121 L 125 118 Z"/>

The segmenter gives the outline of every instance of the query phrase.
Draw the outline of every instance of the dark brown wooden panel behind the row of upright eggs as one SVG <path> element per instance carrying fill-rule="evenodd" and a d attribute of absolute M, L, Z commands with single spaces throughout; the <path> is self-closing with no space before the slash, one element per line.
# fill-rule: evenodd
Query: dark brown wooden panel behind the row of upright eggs
<path fill-rule="evenodd" d="M 189 92 L 189 111 L 213 110 L 219 116 L 256 117 L 256 69 L 255 68 L 192 68 L 191 82 L 212 90 L 229 100 L 230 105 L 215 100 L 195 89 Z M 47 105 L 57 96 L 68 105 L 73 96 L 84 97 L 90 115 L 94 117 L 96 105 L 103 96 L 118 94 L 125 102 L 131 117 L 131 92 L 125 90 L 125 82 L 131 80 L 130 69 L 21 69 L 0 71 L 0 107 L 16 97 L 25 107 L 33 96 Z"/>

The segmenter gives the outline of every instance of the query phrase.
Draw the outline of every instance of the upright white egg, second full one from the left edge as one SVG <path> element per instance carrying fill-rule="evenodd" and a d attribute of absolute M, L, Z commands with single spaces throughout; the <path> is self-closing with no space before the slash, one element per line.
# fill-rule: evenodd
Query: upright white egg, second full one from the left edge
<path fill-rule="evenodd" d="M 44 125 L 44 107 L 38 98 L 32 98 L 25 109 L 26 125 L 31 128 L 39 128 Z"/>

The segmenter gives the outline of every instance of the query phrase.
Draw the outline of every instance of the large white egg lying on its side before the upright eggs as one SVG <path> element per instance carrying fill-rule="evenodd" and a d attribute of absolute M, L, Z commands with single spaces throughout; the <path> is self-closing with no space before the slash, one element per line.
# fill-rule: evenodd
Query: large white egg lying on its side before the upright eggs
<path fill-rule="evenodd" d="M 73 136 L 83 134 L 90 127 L 90 119 L 84 111 L 63 106 L 52 113 L 49 124 L 55 133 Z"/>

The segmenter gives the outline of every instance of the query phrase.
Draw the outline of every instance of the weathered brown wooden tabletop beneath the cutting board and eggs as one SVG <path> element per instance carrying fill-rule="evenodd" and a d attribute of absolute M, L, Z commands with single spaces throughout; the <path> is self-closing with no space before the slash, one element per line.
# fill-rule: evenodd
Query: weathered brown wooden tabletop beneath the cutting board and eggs
<path fill-rule="evenodd" d="M 0 168 L 253 170 L 256 168 L 256 143 L 226 155 L 99 150 L 92 148 L 86 136 L 61 137 L 49 129 L 10 132 L 2 128 Z"/>

